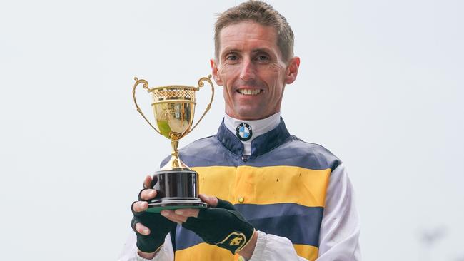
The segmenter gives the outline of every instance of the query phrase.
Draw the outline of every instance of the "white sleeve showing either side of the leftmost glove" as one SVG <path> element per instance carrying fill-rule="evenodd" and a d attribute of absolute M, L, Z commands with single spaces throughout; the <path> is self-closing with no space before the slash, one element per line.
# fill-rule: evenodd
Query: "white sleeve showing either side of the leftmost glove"
<path fill-rule="evenodd" d="M 119 255 L 118 261 L 146 261 L 143 257 L 140 257 L 137 252 L 137 237 L 136 234 L 131 230 L 131 234 L 124 244 L 123 251 Z M 161 250 L 153 257 L 153 261 L 173 261 L 174 260 L 174 251 L 171 242 L 171 234 L 166 236 L 164 240 L 164 245 L 161 247 Z"/>

